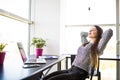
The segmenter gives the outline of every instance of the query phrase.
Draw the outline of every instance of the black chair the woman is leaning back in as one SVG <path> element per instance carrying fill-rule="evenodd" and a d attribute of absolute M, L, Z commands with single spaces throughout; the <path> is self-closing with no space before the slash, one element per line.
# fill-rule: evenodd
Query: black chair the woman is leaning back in
<path fill-rule="evenodd" d="M 71 64 L 74 61 L 76 55 L 71 55 Z M 97 76 L 97 80 L 101 80 L 101 72 L 99 71 L 99 64 L 100 64 L 100 60 L 98 60 L 98 68 L 96 71 L 94 71 L 94 69 L 91 68 L 91 74 L 88 75 L 87 78 L 90 78 L 90 80 L 92 80 L 93 76 Z M 96 72 L 96 73 L 95 73 Z"/>

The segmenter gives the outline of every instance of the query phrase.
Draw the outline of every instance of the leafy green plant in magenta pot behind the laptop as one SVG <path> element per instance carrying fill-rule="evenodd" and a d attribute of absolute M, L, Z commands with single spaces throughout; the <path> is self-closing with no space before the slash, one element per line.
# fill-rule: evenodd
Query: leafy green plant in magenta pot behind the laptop
<path fill-rule="evenodd" d="M 43 47 L 46 46 L 46 41 L 39 37 L 33 37 L 32 45 L 36 48 L 36 58 L 42 56 Z"/>

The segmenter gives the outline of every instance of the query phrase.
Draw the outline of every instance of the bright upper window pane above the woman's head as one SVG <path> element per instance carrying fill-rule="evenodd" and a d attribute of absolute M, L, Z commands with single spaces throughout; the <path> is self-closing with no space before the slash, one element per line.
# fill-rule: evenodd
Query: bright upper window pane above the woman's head
<path fill-rule="evenodd" d="M 66 0 L 66 25 L 115 24 L 115 0 Z"/>

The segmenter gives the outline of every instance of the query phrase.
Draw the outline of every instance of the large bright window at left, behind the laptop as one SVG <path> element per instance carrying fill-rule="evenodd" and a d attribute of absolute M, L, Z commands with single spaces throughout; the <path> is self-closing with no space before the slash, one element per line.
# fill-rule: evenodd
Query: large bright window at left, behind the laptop
<path fill-rule="evenodd" d="M 7 4 L 7 5 L 6 5 Z M 17 53 L 16 43 L 22 42 L 28 52 L 29 0 L 3 0 L 0 2 L 0 42 L 7 43 L 6 51 Z M 6 58 L 7 59 L 7 58 Z"/>

